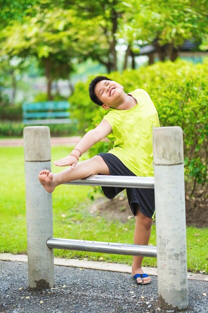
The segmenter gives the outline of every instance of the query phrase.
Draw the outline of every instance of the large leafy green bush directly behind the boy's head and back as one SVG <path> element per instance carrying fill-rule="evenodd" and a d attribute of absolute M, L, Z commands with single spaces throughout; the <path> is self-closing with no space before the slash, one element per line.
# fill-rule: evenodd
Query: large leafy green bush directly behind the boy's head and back
<path fill-rule="evenodd" d="M 158 110 L 161 126 L 183 128 L 185 173 L 189 182 L 192 182 L 192 194 L 197 184 L 204 188 L 204 194 L 208 187 L 207 68 L 208 60 L 203 64 L 177 60 L 108 75 L 120 82 L 126 92 L 136 88 L 147 90 Z M 79 120 L 79 129 L 95 127 L 106 114 L 104 109 L 89 99 L 88 85 L 92 78 L 86 83 L 79 82 L 69 99 L 72 103 L 72 118 Z M 110 145 L 97 145 L 92 152 L 107 151 Z"/>

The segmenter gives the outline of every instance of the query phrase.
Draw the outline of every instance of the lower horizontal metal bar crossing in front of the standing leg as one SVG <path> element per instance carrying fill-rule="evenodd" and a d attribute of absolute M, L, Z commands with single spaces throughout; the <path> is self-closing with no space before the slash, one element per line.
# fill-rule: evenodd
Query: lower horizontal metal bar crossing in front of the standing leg
<path fill-rule="evenodd" d="M 155 245 L 136 245 L 53 237 L 48 238 L 46 244 L 47 247 L 55 249 L 157 257 L 157 246 Z"/>

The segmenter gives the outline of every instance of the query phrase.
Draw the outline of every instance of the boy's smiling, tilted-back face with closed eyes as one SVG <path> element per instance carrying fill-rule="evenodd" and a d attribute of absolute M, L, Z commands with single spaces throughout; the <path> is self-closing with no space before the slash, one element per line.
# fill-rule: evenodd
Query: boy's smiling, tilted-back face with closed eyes
<path fill-rule="evenodd" d="M 95 85 L 95 94 L 103 102 L 104 108 L 116 108 L 121 101 L 121 95 L 124 93 L 123 86 L 113 80 L 101 80 Z"/>

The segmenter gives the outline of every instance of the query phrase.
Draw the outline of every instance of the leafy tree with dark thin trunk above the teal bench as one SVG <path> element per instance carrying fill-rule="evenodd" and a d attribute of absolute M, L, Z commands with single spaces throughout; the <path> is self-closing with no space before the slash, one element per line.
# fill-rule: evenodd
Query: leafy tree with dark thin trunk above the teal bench
<path fill-rule="evenodd" d="M 73 10 L 48 10 L 37 7 L 34 17 L 6 27 L 1 33 L 1 55 L 34 55 L 44 68 L 47 79 L 48 99 L 52 99 L 51 84 L 57 78 L 69 78 L 74 62 L 86 57 L 85 48 L 89 31 L 94 27 L 90 21 L 79 22 Z M 90 28 L 91 26 L 91 28 Z"/>

